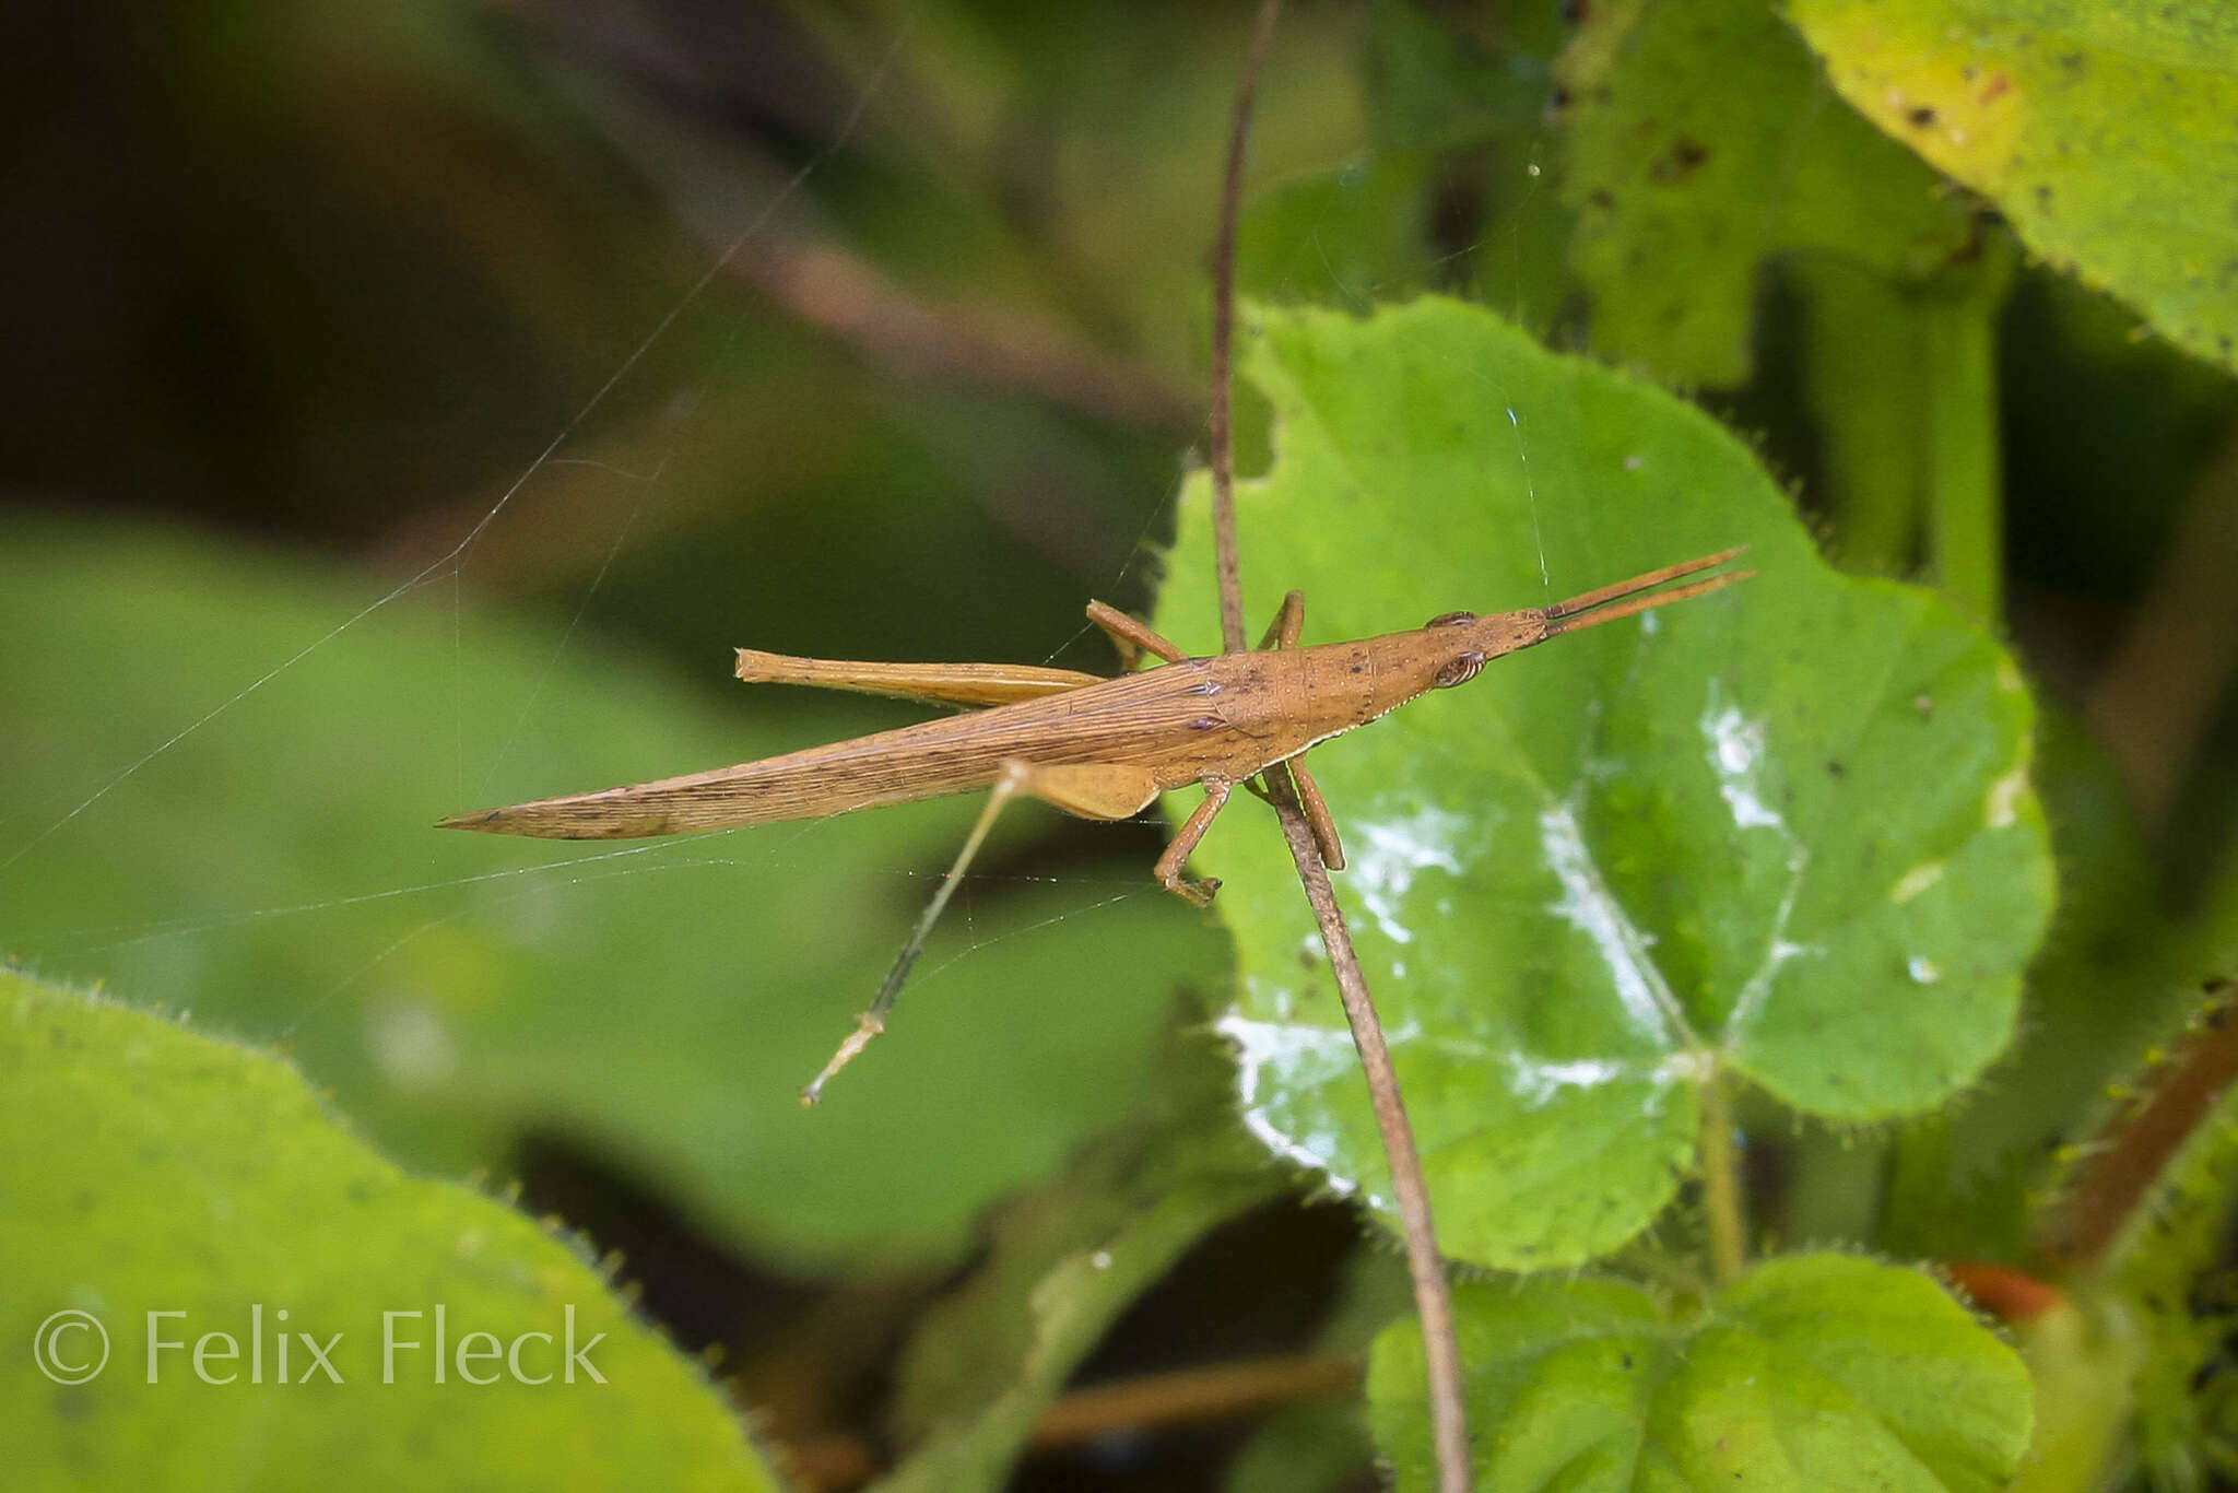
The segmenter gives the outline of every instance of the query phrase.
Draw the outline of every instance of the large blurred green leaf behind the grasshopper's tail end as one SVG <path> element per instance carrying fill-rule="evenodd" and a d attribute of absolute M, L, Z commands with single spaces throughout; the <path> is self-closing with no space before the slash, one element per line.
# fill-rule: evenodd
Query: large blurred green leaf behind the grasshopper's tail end
<path fill-rule="evenodd" d="M 450 586 L 329 636 L 387 586 L 157 533 L 0 539 L 0 631 L 40 638 L 0 651 L 0 698 L 40 723 L 0 739 L 0 857 L 60 821 L 0 871 L 0 949 L 284 1039 L 414 1164 L 501 1171 L 524 1130 L 562 1135 L 801 1269 L 967 1249 L 987 1202 L 1132 1110 L 1175 987 L 1220 969 L 1146 864 L 974 875 L 886 1039 L 803 1112 L 974 801 L 593 846 L 432 824 L 913 714 L 747 692 L 743 638 L 678 678 Z"/>

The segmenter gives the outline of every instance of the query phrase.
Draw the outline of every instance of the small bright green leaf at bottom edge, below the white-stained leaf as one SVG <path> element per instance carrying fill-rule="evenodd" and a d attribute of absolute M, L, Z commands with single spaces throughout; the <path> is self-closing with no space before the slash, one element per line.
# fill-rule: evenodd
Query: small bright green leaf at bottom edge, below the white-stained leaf
<path fill-rule="evenodd" d="M 1620 1280 L 1455 1289 L 1484 1493 L 1992 1493 L 2028 1448 L 2028 1370 L 1927 1276 L 1770 1260 L 1681 1318 Z M 1397 1486 L 1437 1486 L 1421 1327 L 1367 1370 Z"/>

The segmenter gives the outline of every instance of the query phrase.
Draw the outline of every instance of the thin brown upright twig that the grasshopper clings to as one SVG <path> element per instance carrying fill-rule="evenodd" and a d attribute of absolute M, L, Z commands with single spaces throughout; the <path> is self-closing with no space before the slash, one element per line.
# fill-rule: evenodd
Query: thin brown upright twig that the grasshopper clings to
<path fill-rule="evenodd" d="M 1235 450 L 1229 432 L 1229 381 L 1235 340 L 1235 217 L 1242 204 L 1244 139 L 1251 128 L 1251 101 L 1258 92 L 1260 65 L 1282 0 L 1262 0 L 1251 54 L 1235 90 L 1235 125 L 1229 132 L 1229 168 L 1220 190 L 1220 240 L 1213 257 L 1213 396 L 1211 396 L 1211 466 L 1213 466 L 1213 553 L 1220 575 L 1220 638 L 1229 651 L 1249 645 L 1244 631 L 1242 564 L 1235 544 Z M 1437 1486 L 1441 1493 L 1468 1493 L 1468 1406 L 1461 1392 L 1461 1348 L 1452 1327 L 1452 1294 L 1446 1287 L 1446 1265 L 1437 1251 L 1437 1229 L 1430 1222 L 1430 1189 L 1414 1151 L 1414 1128 L 1399 1097 L 1399 1074 L 1392 1070 L 1390 1045 L 1376 1016 L 1367 976 L 1352 949 L 1352 931 L 1329 886 L 1329 868 L 1314 844 L 1314 830 L 1298 806 L 1298 788 L 1287 766 L 1264 774 L 1267 799 L 1282 821 L 1282 839 L 1298 864 L 1298 882 L 1320 924 L 1320 945 L 1329 951 L 1336 992 L 1352 1025 L 1352 1045 L 1367 1074 L 1367 1092 L 1383 1135 L 1383 1155 L 1392 1173 L 1392 1198 L 1405 1231 L 1408 1276 L 1414 1280 L 1414 1314 L 1421 1318 L 1421 1350 L 1430 1383 L 1430 1433 L 1437 1448 Z"/>

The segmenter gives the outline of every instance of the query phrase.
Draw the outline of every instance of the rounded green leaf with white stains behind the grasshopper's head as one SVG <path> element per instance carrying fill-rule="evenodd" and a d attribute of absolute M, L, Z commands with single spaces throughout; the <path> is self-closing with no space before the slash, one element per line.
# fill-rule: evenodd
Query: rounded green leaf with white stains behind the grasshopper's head
<path fill-rule="evenodd" d="M 1701 412 L 1486 311 L 1262 309 L 1247 372 L 1280 454 L 1238 495 L 1253 611 L 1303 586 L 1307 642 L 1741 542 L 1761 571 L 1311 754 L 1448 1253 L 1616 1249 L 1692 1164 L 1714 1070 L 1873 1121 L 1940 1104 L 2010 1041 L 2052 875 L 2030 701 L 1987 636 L 1831 571 Z M 1202 483 L 1184 504 L 1177 553 L 1202 555 Z M 1159 627 L 1206 647 L 1213 616 L 1209 566 L 1175 566 Z M 1238 940 L 1222 1030 L 1247 1119 L 1388 1209 L 1280 837 L 1240 804 L 1200 864 Z"/>

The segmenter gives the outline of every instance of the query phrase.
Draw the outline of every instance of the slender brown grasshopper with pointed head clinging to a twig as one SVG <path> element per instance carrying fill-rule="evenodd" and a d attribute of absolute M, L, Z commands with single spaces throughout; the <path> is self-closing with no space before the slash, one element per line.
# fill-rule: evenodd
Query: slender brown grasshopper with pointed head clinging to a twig
<path fill-rule="evenodd" d="M 1332 871 L 1341 871 L 1343 842 L 1314 774 L 1305 768 L 1307 750 L 1358 730 L 1430 689 L 1466 685 L 1486 660 L 1502 654 L 1755 575 L 1755 571 L 1725 571 L 1670 586 L 1674 580 L 1712 571 L 1739 553 L 1730 548 L 1687 560 L 1551 607 L 1486 616 L 1448 611 L 1412 631 L 1311 647 L 1298 645 L 1305 629 L 1305 595 L 1291 591 L 1256 651 L 1211 658 L 1191 658 L 1128 613 L 1090 602 L 1088 620 L 1110 636 L 1128 669 L 1141 654 L 1164 660 L 1162 667 L 1119 678 L 1027 665 L 841 663 L 739 649 L 736 674 L 750 685 L 788 683 L 888 694 L 962 705 L 976 714 L 653 783 L 479 808 L 452 815 L 439 828 L 546 839 L 631 839 L 779 819 L 824 819 L 857 808 L 989 788 L 985 810 L 871 1007 L 824 1072 L 801 1090 L 801 1104 L 815 1104 L 824 1083 L 884 1032 L 886 1012 L 893 1010 L 956 882 L 978 855 L 1003 806 L 1016 795 L 1085 819 L 1130 819 L 1162 792 L 1202 788 L 1204 799 L 1175 830 L 1153 875 L 1166 891 L 1204 907 L 1220 882 L 1186 877 L 1191 853 L 1238 783 L 1253 786 L 1258 774 L 1287 763 L 1320 857 Z"/>

